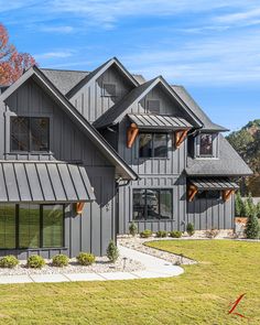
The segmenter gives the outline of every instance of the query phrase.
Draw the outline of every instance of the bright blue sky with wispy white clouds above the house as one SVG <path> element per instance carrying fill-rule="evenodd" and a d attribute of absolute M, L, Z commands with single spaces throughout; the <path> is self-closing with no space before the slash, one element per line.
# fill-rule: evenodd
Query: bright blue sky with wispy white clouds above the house
<path fill-rule="evenodd" d="M 94 69 L 117 56 L 182 84 L 231 130 L 260 118 L 260 2 L 0 0 L 0 22 L 41 67 Z"/>

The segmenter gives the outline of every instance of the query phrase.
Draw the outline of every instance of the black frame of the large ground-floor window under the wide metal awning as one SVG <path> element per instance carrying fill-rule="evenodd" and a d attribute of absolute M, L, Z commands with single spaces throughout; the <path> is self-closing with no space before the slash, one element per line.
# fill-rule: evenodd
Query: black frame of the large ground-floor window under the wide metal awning
<path fill-rule="evenodd" d="M 33 203 L 32 203 L 33 204 Z M 15 206 L 15 247 L 13 248 L 1 248 L 0 250 L 22 250 L 22 249 L 26 249 L 26 250 L 39 250 L 39 249 L 61 249 L 64 248 L 65 245 L 65 204 L 62 203 L 46 203 L 46 204 L 37 204 L 39 205 L 39 210 L 40 210 L 40 221 L 39 221 L 39 229 L 40 229 L 40 245 L 39 247 L 21 247 L 19 245 L 20 242 L 20 230 L 19 230 L 19 226 L 20 226 L 20 209 L 19 209 L 19 204 L 13 204 Z M 62 246 L 58 247 L 46 247 L 43 246 L 43 206 L 55 206 L 55 205 L 59 205 L 63 207 L 63 234 L 62 234 Z"/>

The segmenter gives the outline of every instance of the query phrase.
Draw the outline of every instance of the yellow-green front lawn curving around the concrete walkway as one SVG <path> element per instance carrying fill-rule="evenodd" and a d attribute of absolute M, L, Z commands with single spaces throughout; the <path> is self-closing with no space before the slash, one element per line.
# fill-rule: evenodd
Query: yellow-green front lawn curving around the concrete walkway
<path fill-rule="evenodd" d="M 0 285 L 0 324 L 260 324 L 260 243 L 166 240 L 199 261 L 177 278 Z M 238 312 L 229 303 L 246 293 Z"/>

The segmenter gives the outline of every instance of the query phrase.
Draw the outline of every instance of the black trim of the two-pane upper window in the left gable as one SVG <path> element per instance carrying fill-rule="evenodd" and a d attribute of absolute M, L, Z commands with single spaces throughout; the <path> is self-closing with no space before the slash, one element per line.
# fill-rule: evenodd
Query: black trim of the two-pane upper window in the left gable
<path fill-rule="evenodd" d="M 28 119 L 29 120 L 29 150 L 13 150 L 12 149 L 12 120 L 15 119 L 15 118 L 24 118 L 24 119 Z M 48 122 L 48 132 L 47 132 L 47 143 L 48 143 L 48 148 L 47 150 L 43 150 L 43 151 L 37 151 L 37 150 L 31 150 L 32 148 L 32 132 L 31 132 L 31 121 L 32 119 L 47 119 L 47 122 Z M 9 145 L 9 149 L 10 149 L 10 153 L 37 153 L 37 154 L 44 154 L 44 153 L 50 153 L 51 152 L 51 117 L 50 116 L 17 116 L 17 115 L 12 115 L 10 116 L 10 119 L 9 119 L 9 124 L 10 124 L 10 128 L 9 128 L 9 137 L 10 137 L 10 145 Z"/>

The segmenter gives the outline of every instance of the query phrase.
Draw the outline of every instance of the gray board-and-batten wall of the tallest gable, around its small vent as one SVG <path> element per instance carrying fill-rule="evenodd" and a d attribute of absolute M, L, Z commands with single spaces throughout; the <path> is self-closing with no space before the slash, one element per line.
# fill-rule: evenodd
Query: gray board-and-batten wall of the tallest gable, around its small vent
<path fill-rule="evenodd" d="M 106 93 L 106 87 L 115 88 L 115 94 Z M 121 69 L 112 64 L 97 79 L 93 78 L 83 86 L 69 100 L 89 122 L 94 122 L 133 87 Z"/>

